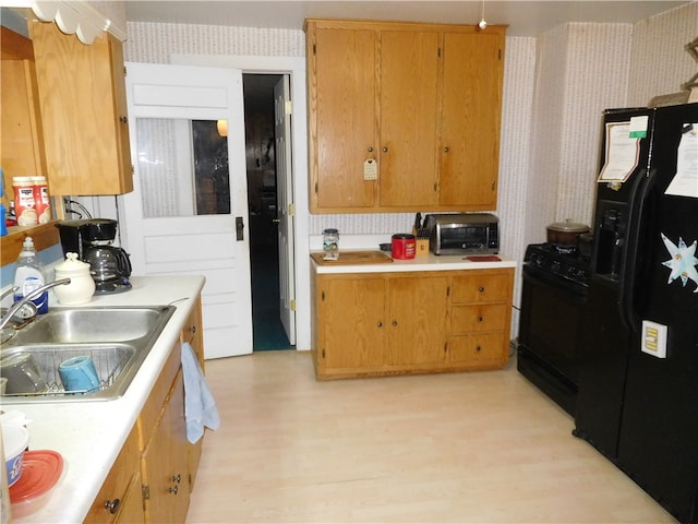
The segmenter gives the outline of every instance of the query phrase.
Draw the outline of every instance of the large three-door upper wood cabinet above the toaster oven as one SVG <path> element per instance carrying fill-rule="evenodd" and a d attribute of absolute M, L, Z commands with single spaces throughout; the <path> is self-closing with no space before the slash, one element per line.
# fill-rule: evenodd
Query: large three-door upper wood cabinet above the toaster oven
<path fill-rule="evenodd" d="M 305 32 L 311 212 L 496 209 L 505 26 Z"/>

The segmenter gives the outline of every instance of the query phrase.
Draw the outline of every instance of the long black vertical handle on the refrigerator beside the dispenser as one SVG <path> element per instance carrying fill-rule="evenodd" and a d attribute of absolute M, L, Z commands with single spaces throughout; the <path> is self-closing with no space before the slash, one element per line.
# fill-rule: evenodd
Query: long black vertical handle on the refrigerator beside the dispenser
<path fill-rule="evenodd" d="M 625 257 L 623 257 L 623 267 L 621 271 L 622 277 L 618 299 L 621 320 L 623 324 L 631 331 L 639 331 L 640 329 L 640 318 L 635 309 L 638 251 L 642 238 L 645 204 L 647 202 L 647 195 L 657 181 L 657 169 L 650 169 L 648 175 L 645 174 L 645 169 L 638 174 L 638 181 L 630 193 Z"/>

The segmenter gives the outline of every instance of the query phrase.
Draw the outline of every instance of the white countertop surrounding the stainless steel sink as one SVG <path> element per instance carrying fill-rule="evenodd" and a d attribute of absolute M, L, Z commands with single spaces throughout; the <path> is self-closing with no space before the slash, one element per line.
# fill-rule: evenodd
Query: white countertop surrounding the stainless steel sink
<path fill-rule="evenodd" d="M 177 310 L 141 366 L 127 393 L 113 401 L 5 404 L 5 412 L 24 413 L 29 450 L 53 450 L 63 456 L 63 475 L 39 500 L 40 508 L 15 508 L 14 522 L 82 522 L 125 442 L 141 408 L 174 343 L 179 340 L 203 276 L 132 277 L 133 289 L 93 297 L 89 306 L 161 306 L 176 302 Z"/>

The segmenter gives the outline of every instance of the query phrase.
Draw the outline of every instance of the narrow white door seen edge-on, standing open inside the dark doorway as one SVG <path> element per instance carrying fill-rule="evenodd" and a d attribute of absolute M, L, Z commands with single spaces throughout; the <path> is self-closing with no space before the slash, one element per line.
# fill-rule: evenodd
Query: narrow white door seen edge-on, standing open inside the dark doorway
<path fill-rule="evenodd" d="M 274 131 L 276 135 L 276 210 L 279 245 L 279 306 L 281 324 L 296 345 L 296 269 L 293 261 L 293 180 L 291 169 L 291 87 L 287 74 L 274 86 Z"/>

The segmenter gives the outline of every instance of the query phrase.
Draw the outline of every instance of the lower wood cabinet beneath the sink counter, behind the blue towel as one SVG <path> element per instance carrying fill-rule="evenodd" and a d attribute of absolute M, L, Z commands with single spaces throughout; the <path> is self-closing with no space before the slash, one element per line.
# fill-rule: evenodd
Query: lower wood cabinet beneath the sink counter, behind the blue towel
<path fill-rule="evenodd" d="M 182 327 L 129 438 L 87 514 L 87 523 L 185 522 L 203 438 L 186 440 L 181 343 L 203 365 L 201 299 Z"/>

